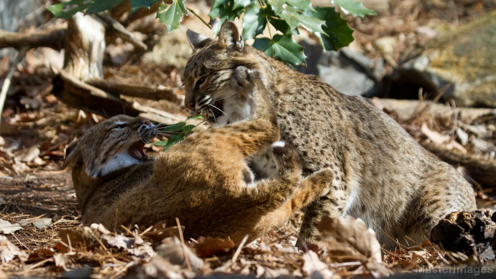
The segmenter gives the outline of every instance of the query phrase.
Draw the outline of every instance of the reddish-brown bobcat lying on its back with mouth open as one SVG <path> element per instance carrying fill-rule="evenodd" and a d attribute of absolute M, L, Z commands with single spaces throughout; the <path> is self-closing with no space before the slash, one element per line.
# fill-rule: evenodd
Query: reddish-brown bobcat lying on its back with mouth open
<path fill-rule="evenodd" d="M 276 142 L 275 112 L 264 100 L 268 95 L 258 94 L 265 90 L 259 79 L 243 67 L 232 76 L 231 87 L 253 103 L 252 119 L 194 133 L 156 161 L 146 158 L 143 145 L 157 128 L 140 117 L 114 116 L 70 144 L 64 167 L 72 167 L 82 223 L 116 229 L 176 224 L 178 217 L 187 237 L 231 237 L 239 243 L 324 196 L 332 171 L 301 177 L 294 149 Z M 255 181 L 247 159 L 266 146 L 277 173 Z"/>

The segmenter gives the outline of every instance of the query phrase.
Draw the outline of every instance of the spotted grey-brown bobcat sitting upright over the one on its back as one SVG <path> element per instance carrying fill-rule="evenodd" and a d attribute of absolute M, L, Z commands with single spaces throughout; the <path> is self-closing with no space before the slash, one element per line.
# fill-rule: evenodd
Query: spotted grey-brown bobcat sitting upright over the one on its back
<path fill-rule="evenodd" d="M 470 184 L 453 167 L 364 100 L 245 45 L 231 21 L 223 23 L 217 39 L 191 30 L 187 37 L 193 54 L 183 79 L 191 113 L 206 114 L 212 126 L 249 118 L 253 104 L 233 94 L 230 81 L 238 67 L 256 69 L 268 89 L 257 93 L 268 94 L 275 106 L 281 138 L 296 147 L 303 173 L 332 169 L 331 190 L 304 211 L 298 245 L 319 243 L 322 213 L 361 218 L 385 247 L 394 248 L 406 237 L 424 240 L 452 211 L 475 209 Z M 260 158 L 254 165 L 270 166 Z"/>

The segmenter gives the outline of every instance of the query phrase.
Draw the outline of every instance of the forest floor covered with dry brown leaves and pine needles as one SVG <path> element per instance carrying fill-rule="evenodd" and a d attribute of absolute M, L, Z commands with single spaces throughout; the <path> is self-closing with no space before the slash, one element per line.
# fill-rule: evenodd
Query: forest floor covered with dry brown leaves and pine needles
<path fill-rule="evenodd" d="M 357 30 L 354 44 L 372 58 L 383 56 L 373 44 L 376 39 L 398 38 L 400 44 L 387 57 L 393 61 L 389 65 L 392 68 L 392 64 L 418 54 L 428 37 L 435 34 L 429 31 L 434 30 L 434 26 L 456 28 L 494 8 L 491 1 L 391 0 L 389 11 L 376 17 L 352 19 L 350 25 Z M 271 278 L 310 276 L 315 272 L 329 278 L 436 270 L 452 273 L 457 268 L 481 274 L 495 270 L 494 260 L 479 262 L 473 256 L 447 252 L 428 239 L 408 247 L 398 246 L 395 251 L 383 250 L 380 263 L 371 264 L 363 255 L 355 260 L 337 255 L 318 258 L 311 249 L 304 252 L 294 247 L 301 213 L 283 227 L 239 247 L 230 240 L 218 239 L 178 242 L 169 237 L 180 236 L 178 227 L 136 228 L 123 235 L 98 226 L 83 228 L 70 171 L 62 169 L 64 149 L 103 118 L 67 107 L 51 94 L 53 74 L 47 65 L 61 64 L 62 57 L 58 52 L 43 48 L 29 51 L 25 62 L 17 66 L 1 115 L 0 230 L 3 233 L 0 233 L 0 279 L 61 275 L 66 278 L 90 275 L 92 278 L 191 278 L 230 274 Z M 3 57 L 0 62 L 2 78 L 8 70 L 7 60 L 8 57 Z M 128 59 L 120 66 L 106 64 L 104 76 L 106 79 L 178 87 L 177 93 L 181 95 L 184 94 L 181 71 L 181 68 L 145 65 L 139 59 Z M 180 104 L 140 101 L 186 118 Z M 494 162 L 495 153 L 481 147 L 484 143 L 494 146 L 496 142 L 494 111 L 474 110 L 467 117 L 459 117 L 459 113 L 433 114 L 433 110 L 423 109 L 425 104 L 420 102 L 410 105 L 413 112 L 405 114 L 391 105 L 394 103 L 378 99 L 372 103 L 398 120 L 419 142 L 431 142 L 441 151 L 454 150 L 481 161 Z M 445 107 L 450 110 L 449 106 Z M 465 134 L 471 137 L 470 141 L 460 140 Z M 161 152 L 161 148 L 153 144 L 148 144 L 146 150 L 148 154 Z M 480 173 L 471 169 L 470 164 L 455 163 L 454 167 L 463 171 L 474 185 L 478 207 L 494 211 L 496 185 L 487 182 L 495 177 L 494 173 Z"/>

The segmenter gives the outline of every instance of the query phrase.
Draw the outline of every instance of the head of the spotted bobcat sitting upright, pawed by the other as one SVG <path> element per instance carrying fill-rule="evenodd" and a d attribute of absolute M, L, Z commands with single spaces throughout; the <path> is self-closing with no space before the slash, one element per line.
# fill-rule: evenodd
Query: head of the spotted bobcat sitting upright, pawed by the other
<path fill-rule="evenodd" d="M 217 40 L 194 33 L 187 36 L 194 49 L 183 80 L 185 106 L 191 114 L 201 114 L 212 126 L 222 126 L 250 116 L 249 96 L 243 87 L 239 66 L 255 69 L 255 63 L 243 52 L 238 29 L 223 25 Z"/>

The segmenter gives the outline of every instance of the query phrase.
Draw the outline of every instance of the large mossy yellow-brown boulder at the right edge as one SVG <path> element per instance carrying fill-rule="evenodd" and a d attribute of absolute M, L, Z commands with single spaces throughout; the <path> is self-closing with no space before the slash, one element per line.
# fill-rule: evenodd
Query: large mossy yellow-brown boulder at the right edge
<path fill-rule="evenodd" d="M 495 45 L 493 11 L 433 39 L 421 56 L 400 65 L 391 80 L 432 95 L 439 92 L 462 106 L 496 107 Z"/>

